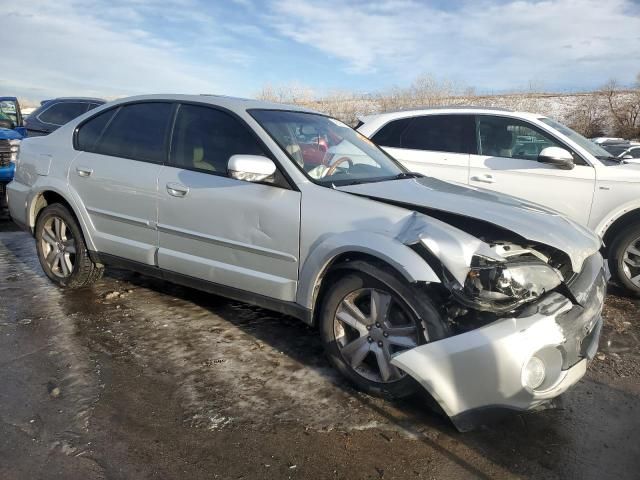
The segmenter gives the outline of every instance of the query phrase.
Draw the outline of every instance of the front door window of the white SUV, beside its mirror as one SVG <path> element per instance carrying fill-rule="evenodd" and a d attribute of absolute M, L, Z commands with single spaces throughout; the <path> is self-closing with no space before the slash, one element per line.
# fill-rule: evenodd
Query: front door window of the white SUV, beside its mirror
<path fill-rule="evenodd" d="M 536 161 L 547 147 L 566 148 L 533 125 L 515 118 L 478 116 L 476 131 L 480 155 Z"/>

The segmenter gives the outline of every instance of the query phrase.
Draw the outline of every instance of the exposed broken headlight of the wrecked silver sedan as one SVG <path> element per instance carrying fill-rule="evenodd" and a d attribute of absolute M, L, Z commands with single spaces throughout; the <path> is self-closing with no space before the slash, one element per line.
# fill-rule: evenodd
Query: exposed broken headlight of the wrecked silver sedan
<path fill-rule="evenodd" d="M 474 257 L 459 300 L 477 310 L 506 312 L 562 283 L 562 274 L 537 258 L 495 262 Z"/>

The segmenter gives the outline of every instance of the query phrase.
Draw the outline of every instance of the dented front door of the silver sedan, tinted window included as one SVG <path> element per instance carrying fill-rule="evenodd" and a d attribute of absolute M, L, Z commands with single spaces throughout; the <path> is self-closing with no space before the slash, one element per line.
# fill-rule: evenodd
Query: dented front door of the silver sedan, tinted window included
<path fill-rule="evenodd" d="M 285 301 L 298 280 L 300 192 L 229 178 L 235 154 L 268 155 L 232 114 L 180 105 L 159 177 L 158 265 Z"/>

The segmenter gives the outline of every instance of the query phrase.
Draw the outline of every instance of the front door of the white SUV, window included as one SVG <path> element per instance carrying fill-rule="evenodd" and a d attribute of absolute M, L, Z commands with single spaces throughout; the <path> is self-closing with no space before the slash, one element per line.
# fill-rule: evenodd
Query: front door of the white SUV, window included
<path fill-rule="evenodd" d="M 573 170 L 538 162 L 546 147 L 571 149 L 525 120 L 476 117 L 478 153 L 471 155 L 469 184 L 507 193 L 558 210 L 586 225 L 595 188 L 595 169 L 574 153 Z"/>

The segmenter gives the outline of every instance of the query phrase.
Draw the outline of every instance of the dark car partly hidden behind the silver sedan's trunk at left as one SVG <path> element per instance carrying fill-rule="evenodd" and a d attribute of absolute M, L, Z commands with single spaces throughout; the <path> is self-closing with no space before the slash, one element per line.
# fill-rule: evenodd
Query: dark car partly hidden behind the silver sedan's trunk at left
<path fill-rule="evenodd" d="M 43 100 L 40 106 L 25 119 L 27 135 L 48 135 L 70 120 L 103 105 L 101 98 L 65 97 Z"/>

